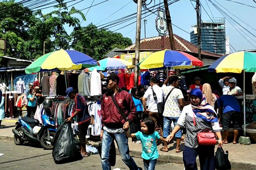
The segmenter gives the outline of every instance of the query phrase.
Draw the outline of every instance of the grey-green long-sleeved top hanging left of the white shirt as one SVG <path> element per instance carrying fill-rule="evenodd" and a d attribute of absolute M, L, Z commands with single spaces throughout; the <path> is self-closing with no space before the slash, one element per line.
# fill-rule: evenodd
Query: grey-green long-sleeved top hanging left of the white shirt
<path fill-rule="evenodd" d="M 78 76 L 78 92 L 83 96 L 90 96 L 89 75 L 86 73 Z"/>

